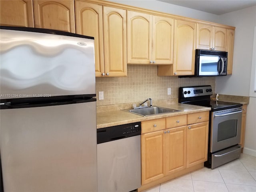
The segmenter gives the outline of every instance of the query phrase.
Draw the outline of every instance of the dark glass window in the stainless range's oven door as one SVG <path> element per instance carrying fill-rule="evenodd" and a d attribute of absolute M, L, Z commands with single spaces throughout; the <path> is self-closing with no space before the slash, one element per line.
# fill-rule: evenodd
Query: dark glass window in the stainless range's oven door
<path fill-rule="evenodd" d="M 226 120 L 218 124 L 218 142 L 229 138 L 236 137 L 237 120 Z"/>

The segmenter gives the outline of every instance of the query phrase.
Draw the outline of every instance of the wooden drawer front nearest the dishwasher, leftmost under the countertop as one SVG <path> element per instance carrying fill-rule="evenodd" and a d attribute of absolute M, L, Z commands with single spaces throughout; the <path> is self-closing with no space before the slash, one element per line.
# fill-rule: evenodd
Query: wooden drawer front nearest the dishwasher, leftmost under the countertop
<path fill-rule="evenodd" d="M 164 130 L 165 129 L 165 118 L 154 119 L 141 122 L 141 134 Z"/>

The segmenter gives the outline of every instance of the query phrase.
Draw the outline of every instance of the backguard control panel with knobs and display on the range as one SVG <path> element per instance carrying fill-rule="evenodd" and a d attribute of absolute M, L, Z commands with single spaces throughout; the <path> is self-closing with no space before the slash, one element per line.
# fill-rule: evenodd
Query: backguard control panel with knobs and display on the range
<path fill-rule="evenodd" d="M 212 86 L 180 87 L 182 98 L 212 95 Z"/>

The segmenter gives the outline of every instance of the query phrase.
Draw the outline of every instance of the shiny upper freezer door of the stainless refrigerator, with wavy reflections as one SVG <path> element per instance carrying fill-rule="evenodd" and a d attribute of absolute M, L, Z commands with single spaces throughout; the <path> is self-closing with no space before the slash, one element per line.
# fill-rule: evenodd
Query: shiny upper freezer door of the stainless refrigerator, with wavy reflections
<path fill-rule="evenodd" d="M 93 38 L 11 29 L 0 30 L 1 99 L 96 93 Z"/>

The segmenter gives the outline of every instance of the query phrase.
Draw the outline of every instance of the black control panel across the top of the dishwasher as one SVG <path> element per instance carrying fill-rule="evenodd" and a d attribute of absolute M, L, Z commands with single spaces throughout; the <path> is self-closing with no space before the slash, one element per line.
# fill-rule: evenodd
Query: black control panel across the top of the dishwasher
<path fill-rule="evenodd" d="M 97 144 L 141 134 L 141 122 L 97 129 Z"/>

